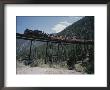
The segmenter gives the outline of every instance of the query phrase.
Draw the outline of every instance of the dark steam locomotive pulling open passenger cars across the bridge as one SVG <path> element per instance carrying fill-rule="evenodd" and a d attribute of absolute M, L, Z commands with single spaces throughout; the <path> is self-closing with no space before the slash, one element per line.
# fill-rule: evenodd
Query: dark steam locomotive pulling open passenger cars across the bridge
<path fill-rule="evenodd" d="M 73 37 L 70 37 L 70 36 L 61 36 L 61 35 L 55 35 L 55 34 L 47 34 L 47 33 L 44 33 L 43 31 L 40 31 L 40 30 L 29 30 L 29 29 L 26 29 L 24 31 L 24 35 L 25 36 L 29 36 L 29 37 L 35 37 L 35 38 L 42 38 L 42 39 L 50 39 L 50 40 L 76 40 L 77 37 L 76 36 L 73 36 Z"/>

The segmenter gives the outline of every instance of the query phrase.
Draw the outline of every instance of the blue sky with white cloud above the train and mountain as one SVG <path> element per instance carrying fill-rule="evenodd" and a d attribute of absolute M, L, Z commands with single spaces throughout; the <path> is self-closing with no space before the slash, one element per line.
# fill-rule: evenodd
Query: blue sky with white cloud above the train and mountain
<path fill-rule="evenodd" d="M 40 30 L 45 33 L 58 33 L 83 16 L 16 16 L 17 33 L 25 29 Z"/>

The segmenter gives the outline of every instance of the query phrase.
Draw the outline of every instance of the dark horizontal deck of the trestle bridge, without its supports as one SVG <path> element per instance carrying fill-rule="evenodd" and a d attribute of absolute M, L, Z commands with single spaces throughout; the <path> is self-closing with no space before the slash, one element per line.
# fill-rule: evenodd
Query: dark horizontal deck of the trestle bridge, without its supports
<path fill-rule="evenodd" d="M 81 39 L 75 39 L 75 40 L 61 40 L 61 39 L 46 39 L 46 38 L 38 38 L 38 37 L 29 37 L 24 34 L 16 33 L 17 39 L 24 39 L 24 40 L 36 40 L 36 41 L 42 41 L 42 42 L 54 42 L 54 43 L 71 43 L 71 44 L 94 44 L 94 40 L 81 40 Z"/>

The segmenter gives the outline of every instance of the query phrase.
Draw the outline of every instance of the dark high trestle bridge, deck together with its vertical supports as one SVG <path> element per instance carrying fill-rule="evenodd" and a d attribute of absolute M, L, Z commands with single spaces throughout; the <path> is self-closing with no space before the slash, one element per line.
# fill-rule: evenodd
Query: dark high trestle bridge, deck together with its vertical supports
<path fill-rule="evenodd" d="M 51 38 L 38 38 L 38 37 L 32 37 L 32 36 L 27 36 L 25 34 L 19 34 L 16 33 L 16 38 L 17 39 L 24 39 L 24 40 L 30 40 L 31 44 L 30 44 L 30 52 L 29 52 L 29 60 L 31 60 L 31 46 L 32 46 L 32 42 L 33 41 L 41 41 L 41 42 L 46 42 L 47 46 L 46 46 L 46 57 L 48 57 L 48 48 L 49 48 L 49 42 L 51 43 L 57 43 L 58 44 L 58 50 L 59 50 L 59 46 L 61 44 L 63 45 L 68 45 L 68 44 L 82 44 L 82 45 L 94 45 L 94 40 L 81 40 L 81 39 L 69 39 L 69 40 L 62 40 L 62 39 L 51 39 Z M 45 60 L 46 63 L 46 60 Z"/>

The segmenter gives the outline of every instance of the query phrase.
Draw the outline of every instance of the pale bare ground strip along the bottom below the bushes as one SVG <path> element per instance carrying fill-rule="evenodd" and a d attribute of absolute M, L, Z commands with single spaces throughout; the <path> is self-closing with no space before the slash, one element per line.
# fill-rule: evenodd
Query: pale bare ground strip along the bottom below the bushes
<path fill-rule="evenodd" d="M 82 74 L 75 70 L 56 69 L 48 67 L 29 67 L 22 63 L 17 63 L 17 74 Z"/>

